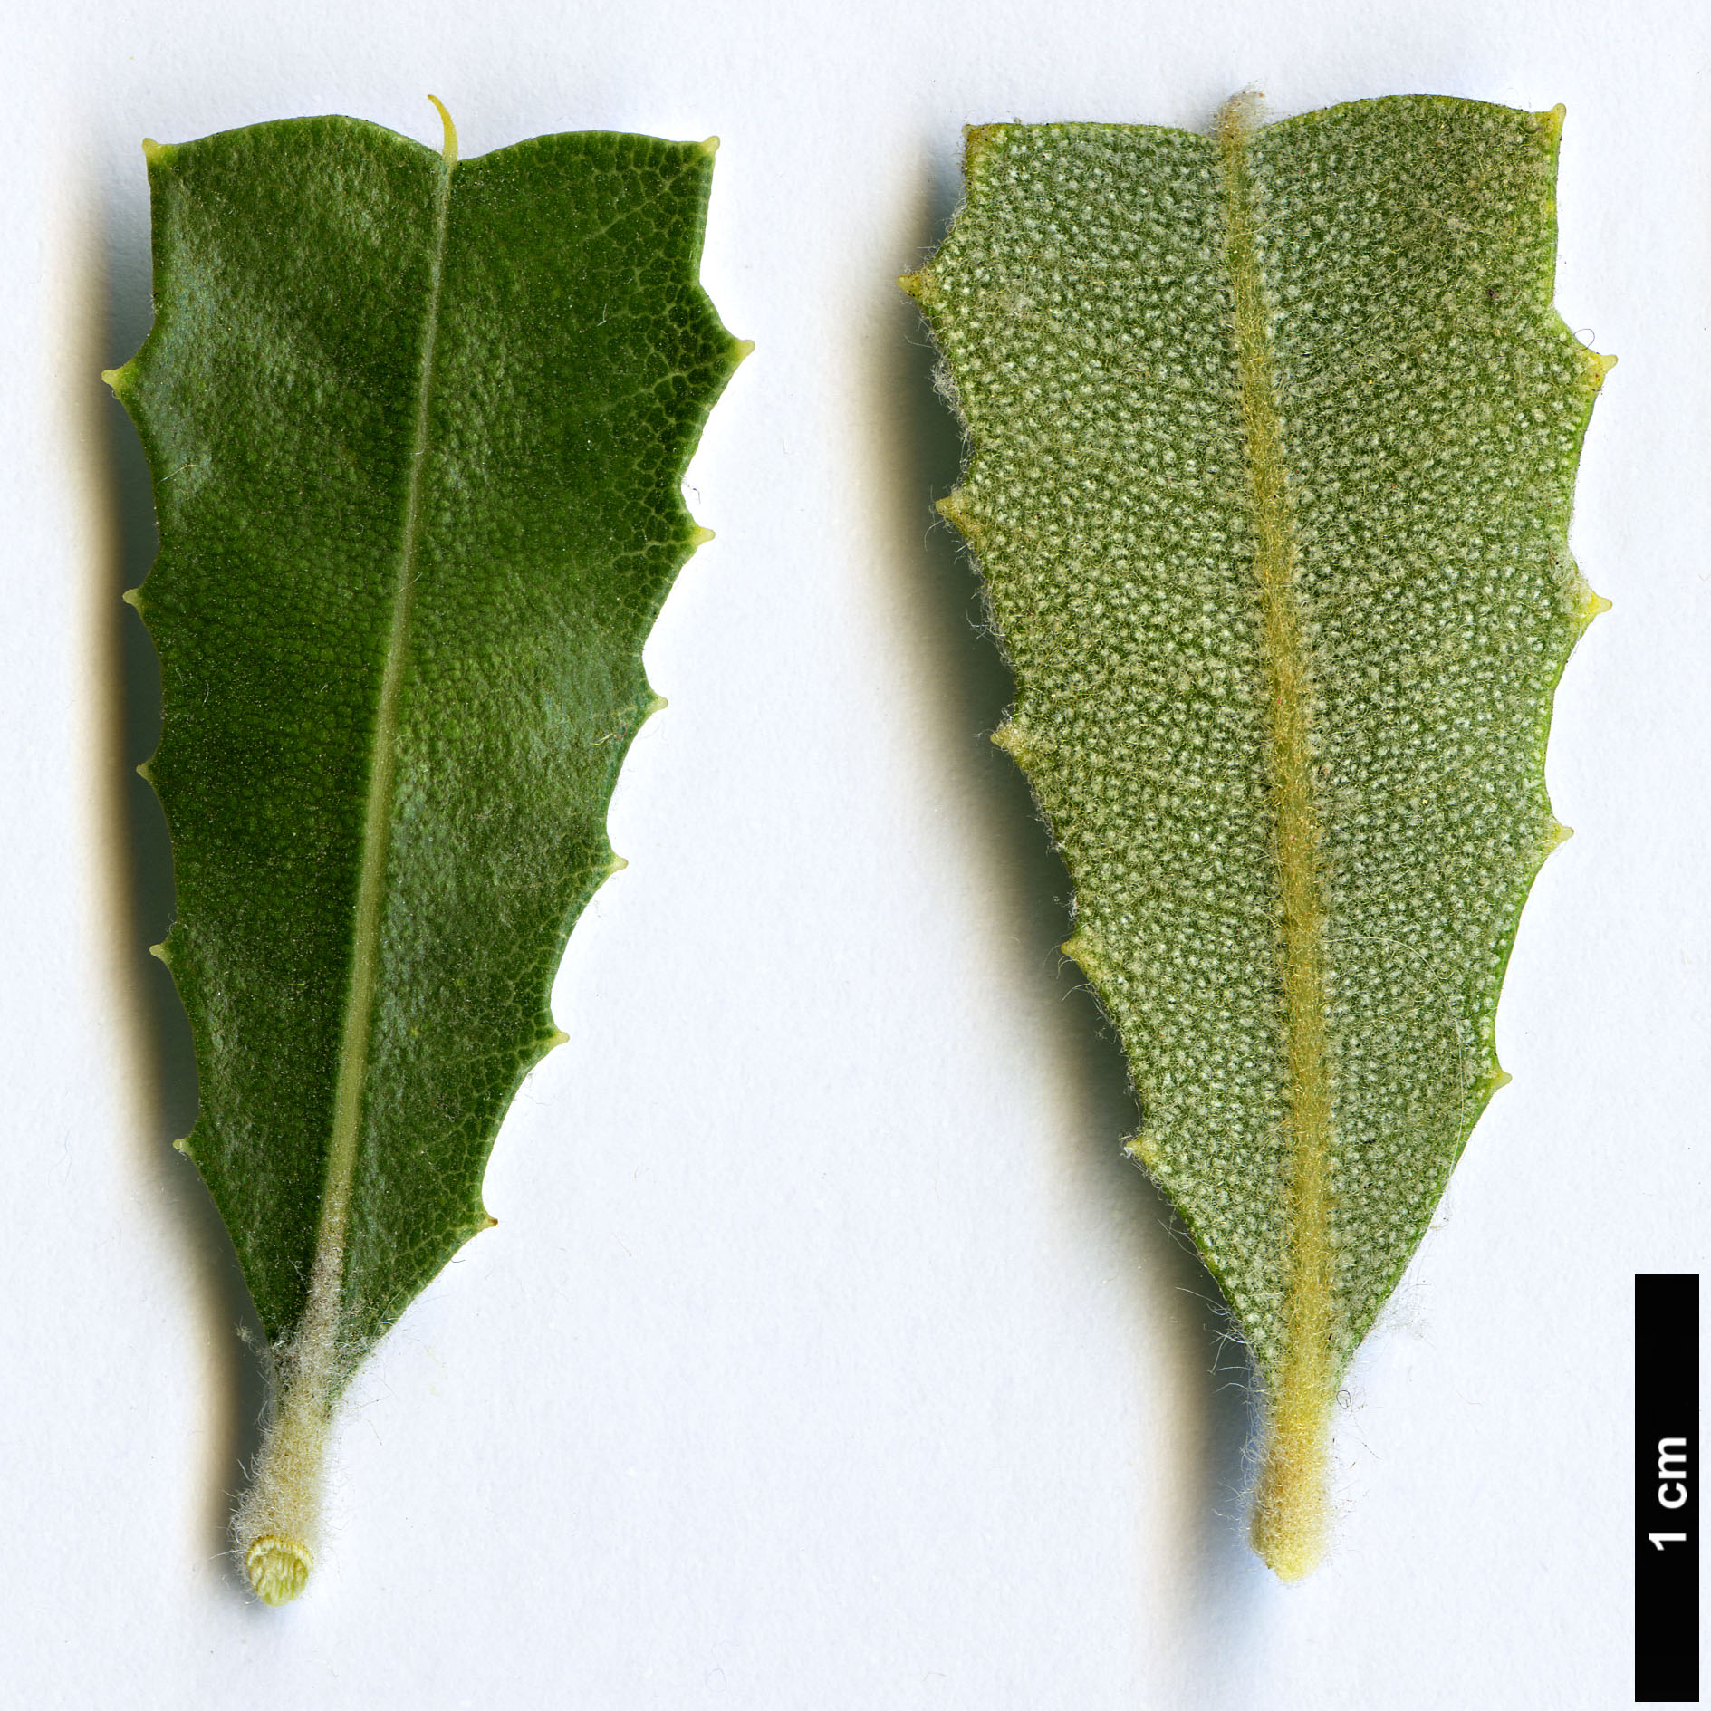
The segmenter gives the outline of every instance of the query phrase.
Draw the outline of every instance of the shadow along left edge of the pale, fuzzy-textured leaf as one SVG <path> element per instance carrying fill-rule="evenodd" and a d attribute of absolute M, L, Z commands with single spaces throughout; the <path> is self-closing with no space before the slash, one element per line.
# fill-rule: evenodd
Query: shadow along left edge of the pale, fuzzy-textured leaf
<path fill-rule="evenodd" d="M 922 185 L 907 270 L 931 255 L 960 200 L 960 169 L 948 152 L 922 149 Z M 1175 1391 L 1194 1398 L 1179 1422 L 1186 1442 L 1165 1451 L 1177 1463 L 1177 1536 L 1146 1555 L 1169 1552 L 1179 1632 L 1186 1648 L 1211 1658 L 1217 1636 L 1242 1620 L 1270 1574 L 1247 1548 L 1249 1444 L 1256 1436 L 1256 1386 L 1246 1343 L 1234 1331 L 1218 1285 L 1201 1264 L 1182 1220 L 1163 1193 L 1122 1153 L 1140 1124 L 1116 1028 L 1081 970 L 1059 953 L 1069 936 L 1069 874 L 1057 856 L 1016 765 L 987 741 L 1015 695 L 1015 679 L 991 633 L 979 573 L 932 501 L 956 483 L 962 431 L 934 385 L 938 363 L 926 322 L 902 291 L 883 320 L 890 340 L 881 358 L 874 419 L 886 445 L 879 467 L 895 474 L 890 554 L 905 578 L 912 635 L 932 654 L 938 741 L 974 777 L 967 802 L 979 820 L 972 844 L 1015 922 L 1018 979 L 1054 982 L 1052 1039 L 1064 1109 L 1075 1114 L 1076 1157 L 1066 1170 L 1081 1193 L 1124 1227 L 1136 1290 L 1165 1294 L 1175 1323 Z M 1145 1384 L 1145 1374 L 1136 1376 Z M 1215 1672 L 1217 1673 L 1217 1672 Z"/>

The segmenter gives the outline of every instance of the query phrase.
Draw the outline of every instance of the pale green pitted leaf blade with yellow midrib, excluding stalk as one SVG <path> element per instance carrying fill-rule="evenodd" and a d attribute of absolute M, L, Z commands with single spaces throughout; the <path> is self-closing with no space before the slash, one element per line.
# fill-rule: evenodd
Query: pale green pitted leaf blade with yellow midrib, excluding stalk
<path fill-rule="evenodd" d="M 910 281 L 972 448 L 944 508 L 1016 672 L 999 741 L 1075 881 L 1133 1152 L 1273 1384 L 1309 1329 L 1341 1371 L 1425 1230 L 1560 837 L 1607 364 L 1550 303 L 1559 123 L 1398 98 L 1222 139 L 991 127 Z"/>

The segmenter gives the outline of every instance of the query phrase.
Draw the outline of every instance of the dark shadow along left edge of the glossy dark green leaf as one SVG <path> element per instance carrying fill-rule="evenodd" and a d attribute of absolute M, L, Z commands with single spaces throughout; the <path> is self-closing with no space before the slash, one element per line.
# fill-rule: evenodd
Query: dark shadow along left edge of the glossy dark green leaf
<path fill-rule="evenodd" d="M 139 173 L 140 180 L 140 173 Z M 139 186 L 139 195 L 142 190 Z M 130 210 L 127 209 L 127 217 Z M 190 1408 L 212 1413 L 205 1478 L 207 1538 L 212 1554 L 231 1548 L 233 1495 L 260 1442 L 265 1386 L 260 1362 L 240 1347 L 262 1347 L 262 1328 L 250 1302 L 238 1256 L 195 1165 L 171 1143 L 190 1133 L 197 1117 L 197 1068 L 190 1021 L 173 977 L 149 955 L 173 922 L 173 852 L 166 816 L 151 785 L 137 775 L 161 734 L 161 667 L 154 643 L 135 609 L 120 595 L 137 587 L 154 561 L 154 493 L 142 441 L 125 407 L 101 382 L 103 368 L 132 358 L 152 315 L 145 240 L 108 210 L 89 257 L 103 289 L 94 298 L 99 325 L 80 339 L 87 361 L 89 406 L 84 436 L 92 491 L 108 513 L 106 551 L 92 566 L 96 599 L 91 633 L 91 679 L 99 705 L 98 794 L 101 801 L 106 921 L 116 1008 L 132 1066 L 133 1110 L 145 1177 L 159 1191 L 176 1240 L 195 1256 L 209 1348 L 209 1371 L 224 1377 L 222 1393 L 193 1398 Z M 234 1584 L 243 1579 L 226 1557 Z"/>

